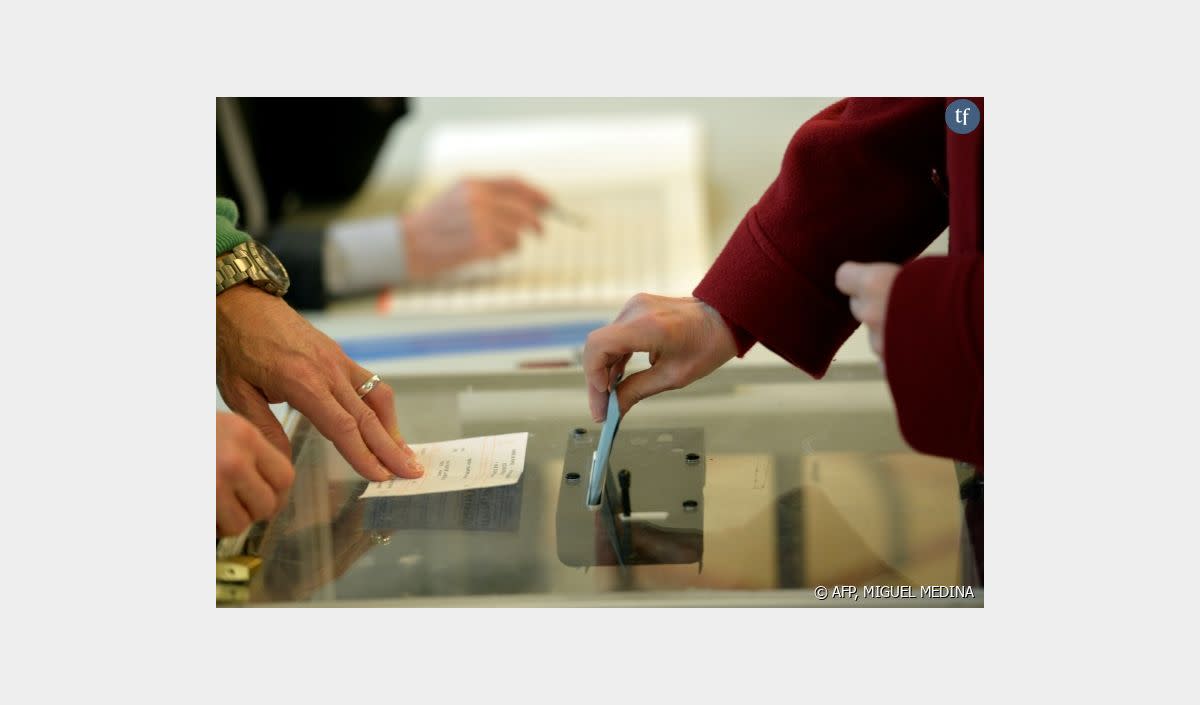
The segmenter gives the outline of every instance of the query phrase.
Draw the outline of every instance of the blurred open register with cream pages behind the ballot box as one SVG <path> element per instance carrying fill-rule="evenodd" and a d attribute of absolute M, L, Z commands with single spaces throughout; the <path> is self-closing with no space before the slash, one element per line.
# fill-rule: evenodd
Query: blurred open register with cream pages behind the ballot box
<path fill-rule="evenodd" d="M 391 140 L 389 140 L 391 144 Z M 398 285 L 390 314 L 613 308 L 638 291 L 686 296 L 707 270 L 703 129 L 688 115 L 442 123 L 409 207 L 463 175 L 512 176 L 552 199 L 540 236 L 433 282 Z M 370 188 L 389 182 L 388 149 Z"/>

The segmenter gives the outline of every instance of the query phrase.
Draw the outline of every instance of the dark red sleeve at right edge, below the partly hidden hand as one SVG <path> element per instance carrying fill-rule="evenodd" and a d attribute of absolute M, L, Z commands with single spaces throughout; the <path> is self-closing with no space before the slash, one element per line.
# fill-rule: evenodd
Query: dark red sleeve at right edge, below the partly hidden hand
<path fill-rule="evenodd" d="M 983 255 L 906 265 L 892 284 L 883 326 L 883 362 L 905 440 L 982 468 Z"/>

